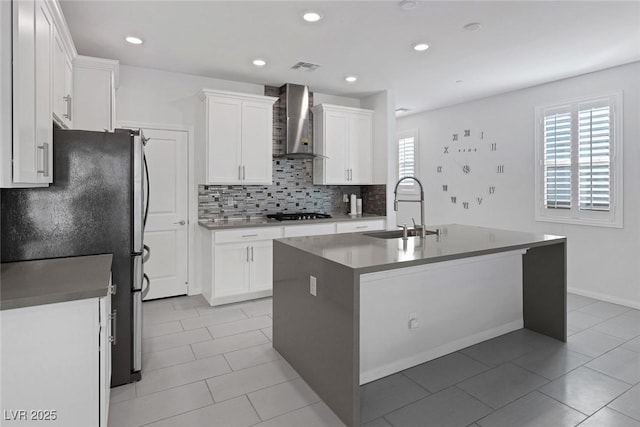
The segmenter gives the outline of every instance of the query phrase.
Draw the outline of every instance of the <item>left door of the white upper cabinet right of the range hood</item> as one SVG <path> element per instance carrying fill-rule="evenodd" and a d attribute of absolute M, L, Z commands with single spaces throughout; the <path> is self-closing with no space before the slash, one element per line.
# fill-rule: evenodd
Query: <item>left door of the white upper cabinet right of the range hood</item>
<path fill-rule="evenodd" d="M 349 184 L 347 166 L 349 119 L 346 113 L 327 111 L 324 116 L 325 183 Z"/>

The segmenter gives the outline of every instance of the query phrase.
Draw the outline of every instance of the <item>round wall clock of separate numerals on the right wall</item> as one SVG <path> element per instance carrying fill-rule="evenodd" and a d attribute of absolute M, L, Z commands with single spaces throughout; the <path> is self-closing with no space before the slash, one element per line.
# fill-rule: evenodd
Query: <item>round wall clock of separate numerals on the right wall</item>
<path fill-rule="evenodd" d="M 464 210 L 479 208 L 496 194 L 497 183 L 506 173 L 498 156 L 499 144 L 484 130 L 452 132 L 442 145 L 436 166 L 445 200 Z"/>

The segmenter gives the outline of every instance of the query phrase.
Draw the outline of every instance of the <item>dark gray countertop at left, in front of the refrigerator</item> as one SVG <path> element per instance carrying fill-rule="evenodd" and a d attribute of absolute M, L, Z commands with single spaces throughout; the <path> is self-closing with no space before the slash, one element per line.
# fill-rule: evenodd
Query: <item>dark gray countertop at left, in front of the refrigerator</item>
<path fill-rule="evenodd" d="M 1 265 L 0 310 L 107 295 L 113 255 L 88 255 Z"/>

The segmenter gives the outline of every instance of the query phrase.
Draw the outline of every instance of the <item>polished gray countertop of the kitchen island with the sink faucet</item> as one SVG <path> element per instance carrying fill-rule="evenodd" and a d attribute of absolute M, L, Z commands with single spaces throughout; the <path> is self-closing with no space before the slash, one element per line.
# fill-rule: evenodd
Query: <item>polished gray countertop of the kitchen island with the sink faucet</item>
<path fill-rule="evenodd" d="M 458 224 L 427 226 L 427 229 L 439 229 L 440 234 L 428 235 L 424 242 L 420 237 L 409 237 L 406 248 L 400 238 L 367 235 L 372 232 L 289 237 L 275 242 L 351 267 L 359 273 L 566 242 L 562 236 Z"/>

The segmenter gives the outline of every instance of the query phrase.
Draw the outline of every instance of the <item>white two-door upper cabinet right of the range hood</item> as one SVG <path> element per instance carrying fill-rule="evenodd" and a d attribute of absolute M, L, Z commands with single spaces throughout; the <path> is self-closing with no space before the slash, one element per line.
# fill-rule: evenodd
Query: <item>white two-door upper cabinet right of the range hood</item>
<path fill-rule="evenodd" d="M 314 184 L 373 183 L 373 111 L 321 104 L 313 112 L 313 137 L 318 157 Z"/>

